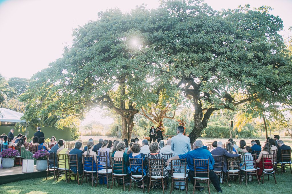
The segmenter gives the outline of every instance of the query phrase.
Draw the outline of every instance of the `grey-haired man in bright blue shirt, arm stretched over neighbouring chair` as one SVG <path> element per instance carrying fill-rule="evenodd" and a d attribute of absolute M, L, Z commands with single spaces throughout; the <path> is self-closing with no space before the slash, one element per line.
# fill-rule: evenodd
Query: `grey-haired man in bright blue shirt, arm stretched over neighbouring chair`
<path fill-rule="evenodd" d="M 215 163 L 213 156 L 211 155 L 211 153 L 206 150 L 203 149 L 203 143 L 201 140 L 197 140 L 194 142 L 193 145 L 194 150 L 187 152 L 186 154 L 181 154 L 178 156 L 174 156 L 170 159 L 168 159 L 168 161 L 166 162 L 167 164 L 170 163 L 172 160 L 179 160 L 179 159 L 186 159 L 187 160 L 187 165 L 189 166 L 189 177 L 192 181 L 192 184 L 194 185 L 194 161 L 193 159 L 209 159 L 210 163 L 209 163 L 209 179 L 211 180 L 213 186 L 215 187 L 215 189 L 217 190 L 217 192 L 222 193 L 222 189 L 220 187 L 220 183 L 218 180 L 217 175 L 215 174 L 215 172 L 213 171 L 213 165 Z M 204 167 L 196 167 L 196 172 L 199 172 L 199 177 L 207 177 L 207 172 L 206 172 L 206 168 Z M 199 191 L 203 191 L 204 188 L 200 187 L 199 183 L 196 183 L 196 189 Z"/>

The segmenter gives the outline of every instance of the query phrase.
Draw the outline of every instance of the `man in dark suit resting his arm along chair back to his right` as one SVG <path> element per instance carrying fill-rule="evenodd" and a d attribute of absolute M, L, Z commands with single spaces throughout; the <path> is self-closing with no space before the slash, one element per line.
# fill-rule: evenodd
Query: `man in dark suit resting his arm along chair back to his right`
<path fill-rule="evenodd" d="M 229 144 L 229 143 L 227 143 L 227 144 Z M 226 147 L 227 147 L 227 144 L 226 144 Z M 228 152 L 227 149 L 223 149 L 222 146 L 223 146 L 223 143 L 221 141 L 218 141 L 217 147 L 212 150 L 211 154 L 215 155 L 215 156 L 225 156 L 224 161 L 223 161 L 223 172 L 226 173 L 227 172 L 227 159 L 234 158 L 234 157 L 241 156 L 241 155 L 235 154 L 235 152 L 232 150 L 232 146 L 231 146 L 231 153 Z M 221 169 L 215 167 L 214 170 L 221 170 Z"/>

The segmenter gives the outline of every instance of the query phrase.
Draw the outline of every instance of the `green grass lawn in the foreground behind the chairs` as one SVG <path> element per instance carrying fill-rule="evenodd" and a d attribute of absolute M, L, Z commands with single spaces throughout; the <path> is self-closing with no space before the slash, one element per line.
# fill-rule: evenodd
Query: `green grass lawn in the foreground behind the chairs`
<path fill-rule="evenodd" d="M 283 175 L 276 175 L 277 184 L 274 182 L 274 178 L 270 178 L 270 181 L 265 179 L 264 184 L 258 185 L 257 181 L 248 182 L 247 186 L 244 184 L 239 185 L 239 182 L 230 182 L 229 185 L 224 183 L 221 184 L 223 193 L 291 193 L 292 189 L 292 175 L 291 172 L 286 170 L 286 173 Z M 170 181 L 171 182 L 171 181 Z M 111 181 L 110 181 L 111 184 Z M 169 185 L 170 186 L 170 185 Z M 214 186 L 210 183 L 211 193 L 215 193 Z M 54 181 L 53 177 L 48 178 L 37 178 L 37 179 L 28 179 L 24 181 L 12 182 L 8 184 L 3 184 L 0 186 L 0 193 L 10 194 L 10 193 L 100 193 L 100 194 L 126 194 L 128 192 L 128 186 L 126 186 L 126 191 L 123 191 L 122 186 L 113 186 L 113 189 L 107 189 L 106 185 L 97 185 L 97 187 L 91 187 L 91 184 L 88 182 L 84 182 L 82 185 L 78 185 L 76 181 L 71 181 L 70 183 L 66 183 L 65 180 L 59 179 L 58 181 Z M 188 193 L 192 193 L 193 186 L 189 184 Z M 143 190 L 133 188 L 130 193 L 142 193 Z M 147 192 L 147 191 L 146 191 Z M 169 193 L 170 188 L 165 191 L 165 193 Z M 160 194 L 162 193 L 162 189 L 154 189 L 150 190 L 150 193 Z M 173 194 L 184 194 L 185 191 L 173 191 Z M 195 193 L 208 193 L 205 188 L 204 191 Z"/>

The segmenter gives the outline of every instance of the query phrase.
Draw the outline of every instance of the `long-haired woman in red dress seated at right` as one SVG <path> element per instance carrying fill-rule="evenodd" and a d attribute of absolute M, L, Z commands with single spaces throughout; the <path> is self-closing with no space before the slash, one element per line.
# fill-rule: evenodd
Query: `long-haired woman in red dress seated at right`
<path fill-rule="evenodd" d="M 263 158 L 263 154 L 272 154 L 271 146 L 269 143 L 265 143 L 263 150 L 260 152 L 258 159 L 256 160 L 256 163 L 258 163 L 258 177 L 262 176 L 264 167 L 265 169 L 273 168 L 272 158 Z M 265 161 L 265 166 L 263 166 L 263 160 Z M 267 166 L 267 164 L 269 165 Z"/>

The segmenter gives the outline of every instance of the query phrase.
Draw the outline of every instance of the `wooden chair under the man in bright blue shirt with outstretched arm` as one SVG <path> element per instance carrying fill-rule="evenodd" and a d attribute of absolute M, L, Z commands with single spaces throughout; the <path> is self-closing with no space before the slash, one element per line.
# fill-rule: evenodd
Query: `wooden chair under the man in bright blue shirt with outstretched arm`
<path fill-rule="evenodd" d="M 209 178 L 209 159 L 193 159 L 194 160 L 194 188 L 193 194 L 195 193 L 196 183 L 206 183 L 208 192 L 210 194 L 210 178 Z M 204 170 L 204 171 L 197 171 Z M 204 173 L 204 174 L 203 174 Z M 207 173 L 207 176 L 205 176 Z"/>

